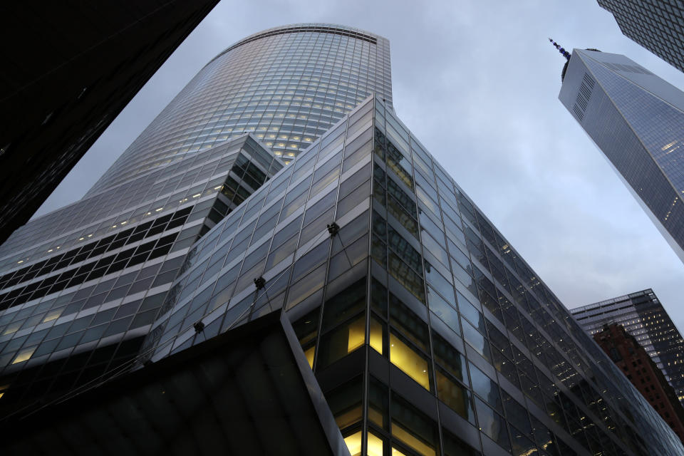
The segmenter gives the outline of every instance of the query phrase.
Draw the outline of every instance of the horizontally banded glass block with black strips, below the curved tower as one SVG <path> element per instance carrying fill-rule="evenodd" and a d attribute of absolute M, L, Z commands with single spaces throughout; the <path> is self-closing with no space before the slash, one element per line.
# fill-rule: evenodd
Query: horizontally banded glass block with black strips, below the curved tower
<path fill-rule="evenodd" d="M 0 407 L 133 358 L 192 244 L 283 167 L 246 135 L 26 224 L 51 248 L 0 276 Z"/>

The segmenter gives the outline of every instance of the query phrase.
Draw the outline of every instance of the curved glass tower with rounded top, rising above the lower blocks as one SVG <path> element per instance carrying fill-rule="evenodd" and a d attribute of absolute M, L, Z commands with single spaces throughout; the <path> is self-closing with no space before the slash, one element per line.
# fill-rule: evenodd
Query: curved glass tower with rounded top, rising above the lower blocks
<path fill-rule="evenodd" d="M 329 24 L 255 33 L 207 63 L 88 195 L 244 133 L 287 163 L 371 93 L 391 105 L 387 39 Z"/>

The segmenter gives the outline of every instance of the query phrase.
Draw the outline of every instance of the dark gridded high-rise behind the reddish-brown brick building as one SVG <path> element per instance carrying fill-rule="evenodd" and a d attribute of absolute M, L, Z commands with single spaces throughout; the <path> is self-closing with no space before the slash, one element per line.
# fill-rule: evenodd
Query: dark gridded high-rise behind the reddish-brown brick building
<path fill-rule="evenodd" d="M 571 312 L 591 336 L 606 324 L 622 325 L 651 356 L 684 404 L 684 338 L 653 290 L 606 299 Z"/>

